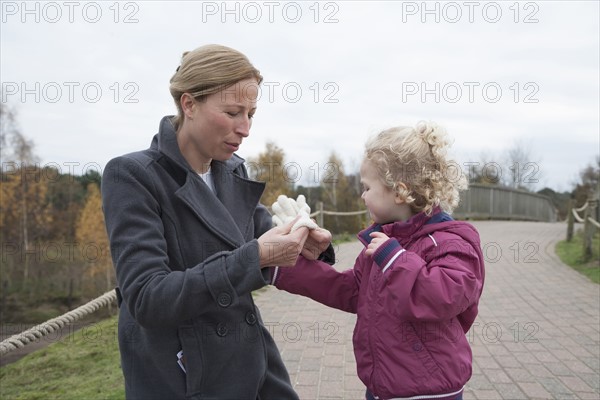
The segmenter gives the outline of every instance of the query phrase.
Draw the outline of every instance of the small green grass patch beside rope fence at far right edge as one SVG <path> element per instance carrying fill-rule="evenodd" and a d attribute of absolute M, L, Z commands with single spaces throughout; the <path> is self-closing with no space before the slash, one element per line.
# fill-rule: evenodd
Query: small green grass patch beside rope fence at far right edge
<path fill-rule="evenodd" d="M 581 231 L 574 234 L 570 242 L 558 242 L 555 251 L 562 262 L 587 276 L 592 282 L 600 284 L 600 234 L 596 233 L 592 239 L 592 258 L 588 261 L 583 257 Z"/>

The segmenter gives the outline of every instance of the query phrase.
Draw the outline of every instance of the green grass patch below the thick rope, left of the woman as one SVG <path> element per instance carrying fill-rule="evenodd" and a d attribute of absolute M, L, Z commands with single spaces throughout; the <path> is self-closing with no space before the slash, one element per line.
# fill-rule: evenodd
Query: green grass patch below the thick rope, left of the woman
<path fill-rule="evenodd" d="M 86 325 L 0 368 L 0 398 L 125 398 L 117 318 Z"/>

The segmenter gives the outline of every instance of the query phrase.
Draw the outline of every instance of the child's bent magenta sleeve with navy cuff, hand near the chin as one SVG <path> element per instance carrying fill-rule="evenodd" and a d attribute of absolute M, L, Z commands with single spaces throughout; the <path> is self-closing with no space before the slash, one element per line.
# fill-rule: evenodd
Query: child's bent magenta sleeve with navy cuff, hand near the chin
<path fill-rule="evenodd" d="M 388 239 L 373 254 L 384 278 L 386 307 L 403 320 L 448 320 L 479 301 L 481 252 L 458 236 L 440 240 L 426 262 Z"/>

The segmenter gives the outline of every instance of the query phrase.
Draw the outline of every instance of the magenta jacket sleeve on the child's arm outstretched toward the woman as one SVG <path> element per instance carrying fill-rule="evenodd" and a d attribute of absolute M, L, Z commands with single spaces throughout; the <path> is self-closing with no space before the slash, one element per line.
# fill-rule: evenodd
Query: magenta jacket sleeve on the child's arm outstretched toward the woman
<path fill-rule="evenodd" d="M 278 268 L 273 284 L 286 292 L 356 314 L 361 272 L 360 258 L 354 268 L 338 272 L 324 261 L 300 256 L 295 266 Z"/>

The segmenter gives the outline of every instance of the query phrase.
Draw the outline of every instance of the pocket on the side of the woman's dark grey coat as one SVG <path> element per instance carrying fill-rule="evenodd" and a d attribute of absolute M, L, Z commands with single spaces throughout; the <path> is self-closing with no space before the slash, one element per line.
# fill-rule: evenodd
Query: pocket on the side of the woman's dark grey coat
<path fill-rule="evenodd" d="M 182 364 L 185 367 L 186 397 L 192 397 L 199 394 L 203 387 L 203 369 L 202 351 L 200 343 L 193 326 L 184 326 L 178 329 L 179 341 L 183 355 Z M 174 362 L 175 357 L 174 357 Z M 177 366 L 179 368 L 179 366 Z"/>

